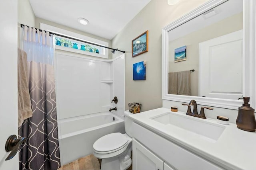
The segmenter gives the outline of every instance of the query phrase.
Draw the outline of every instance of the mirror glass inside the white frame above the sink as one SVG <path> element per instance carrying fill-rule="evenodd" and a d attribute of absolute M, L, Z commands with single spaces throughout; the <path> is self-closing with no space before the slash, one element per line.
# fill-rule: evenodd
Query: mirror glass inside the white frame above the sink
<path fill-rule="evenodd" d="M 229 0 L 168 32 L 168 94 L 243 95 L 243 2 Z"/>

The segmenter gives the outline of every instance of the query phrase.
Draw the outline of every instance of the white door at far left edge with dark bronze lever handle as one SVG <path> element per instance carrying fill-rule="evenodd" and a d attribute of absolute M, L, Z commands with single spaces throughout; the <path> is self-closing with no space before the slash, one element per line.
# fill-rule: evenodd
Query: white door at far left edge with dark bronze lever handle
<path fill-rule="evenodd" d="M 18 170 L 18 154 L 6 157 L 5 143 L 18 136 L 18 2 L 0 0 L 0 170 Z"/>

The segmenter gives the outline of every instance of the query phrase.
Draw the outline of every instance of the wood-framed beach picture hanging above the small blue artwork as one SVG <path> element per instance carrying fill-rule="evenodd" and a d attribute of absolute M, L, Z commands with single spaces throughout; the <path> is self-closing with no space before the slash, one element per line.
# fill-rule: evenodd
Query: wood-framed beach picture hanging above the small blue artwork
<path fill-rule="evenodd" d="M 132 40 L 132 57 L 148 51 L 148 31 Z"/>

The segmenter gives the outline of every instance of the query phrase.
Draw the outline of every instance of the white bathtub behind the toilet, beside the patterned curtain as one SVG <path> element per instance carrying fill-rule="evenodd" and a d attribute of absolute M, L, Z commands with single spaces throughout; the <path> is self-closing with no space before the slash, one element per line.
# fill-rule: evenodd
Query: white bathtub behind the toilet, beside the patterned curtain
<path fill-rule="evenodd" d="M 92 154 L 92 145 L 100 137 L 125 133 L 124 120 L 111 112 L 61 119 L 58 126 L 61 165 Z"/>

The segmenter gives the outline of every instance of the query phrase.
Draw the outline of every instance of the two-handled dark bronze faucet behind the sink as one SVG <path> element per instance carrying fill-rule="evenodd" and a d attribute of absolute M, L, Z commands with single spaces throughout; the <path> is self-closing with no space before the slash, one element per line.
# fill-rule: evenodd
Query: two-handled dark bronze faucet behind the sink
<path fill-rule="evenodd" d="M 187 110 L 186 115 L 190 115 L 190 116 L 194 116 L 194 117 L 199 117 L 199 118 L 202 118 L 202 119 L 206 119 L 206 116 L 205 116 L 205 114 L 204 114 L 204 109 L 210 109 L 210 110 L 213 109 L 212 107 L 201 107 L 200 114 L 198 115 L 198 112 L 197 112 L 197 104 L 196 104 L 196 101 L 195 101 L 195 100 L 191 100 L 191 101 L 189 102 L 189 104 L 184 104 L 184 103 L 182 103 L 182 105 L 188 106 L 188 110 Z M 192 113 L 191 113 L 190 106 L 193 106 L 193 107 L 194 107 Z"/>

